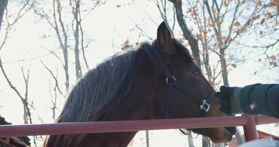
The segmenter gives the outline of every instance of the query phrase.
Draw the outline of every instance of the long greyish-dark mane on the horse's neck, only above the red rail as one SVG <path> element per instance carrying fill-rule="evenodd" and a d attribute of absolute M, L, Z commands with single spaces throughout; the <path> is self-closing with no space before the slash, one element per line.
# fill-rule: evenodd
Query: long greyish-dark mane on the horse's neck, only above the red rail
<path fill-rule="evenodd" d="M 71 90 L 58 121 L 105 120 L 100 117 L 109 114 L 130 88 L 136 53 L 130 50 L 114 55 L 86 73 Z"/>

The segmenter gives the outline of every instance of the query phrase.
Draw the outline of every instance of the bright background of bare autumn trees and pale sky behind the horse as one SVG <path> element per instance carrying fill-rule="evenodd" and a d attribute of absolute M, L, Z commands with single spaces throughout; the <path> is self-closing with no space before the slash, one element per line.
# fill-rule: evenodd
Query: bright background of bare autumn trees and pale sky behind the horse
<path fill-rule="evenodd" d="M 278 83 L 278 16 L 278 0 L 0 0 L 0 115 L 53 122 L 84 73 L 155 39 L 162 20 L 215 89 Z M 175 141 L 163 142 L 170 134 Z M 130 146 L 225 146 L 201 138 L 139 132 Z"/>

